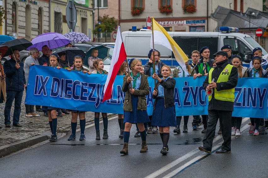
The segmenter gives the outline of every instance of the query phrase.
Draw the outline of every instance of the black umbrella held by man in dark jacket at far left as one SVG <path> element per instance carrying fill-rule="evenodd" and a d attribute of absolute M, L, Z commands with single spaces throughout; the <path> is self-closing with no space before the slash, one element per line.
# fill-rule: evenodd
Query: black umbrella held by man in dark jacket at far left
<path fill-rule="evenodd" d="M 13 39 L 13 40 L 7 41 L 3 43 L 2 45 L 8 46 L 8 50 L 6 54 L 3 55 L 3 57 L 6 57 L 10 55 L 10 52 L 12 51 L 12 49 L 16 49 L 18 51 L 26 50 L 26 48 L 31 46 L 32 43 L 25 38 L 20 38 L 20 39 Z"/>

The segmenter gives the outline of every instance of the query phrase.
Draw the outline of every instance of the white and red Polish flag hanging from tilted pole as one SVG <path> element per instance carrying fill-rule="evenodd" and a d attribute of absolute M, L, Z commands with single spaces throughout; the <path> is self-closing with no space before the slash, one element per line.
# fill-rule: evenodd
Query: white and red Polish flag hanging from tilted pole
<path fill-rule="evenodd" d="M 120 65 L 125 60 L 126 60 L 126 50 L 122 39 L 121 29 L 120 26 L 118 26 L 110 70 L 107 75 L 107 79 L 104 86 L 103 102 L 111 98 L 114 79 L 119 71 Z"/>

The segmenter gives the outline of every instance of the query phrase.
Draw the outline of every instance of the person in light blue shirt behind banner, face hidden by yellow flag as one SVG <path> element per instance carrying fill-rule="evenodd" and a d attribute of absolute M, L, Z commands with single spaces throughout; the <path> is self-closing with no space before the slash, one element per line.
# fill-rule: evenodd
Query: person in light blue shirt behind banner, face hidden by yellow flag
<path fill-rule="evenodd" d="M 193 76 L 195 71 L 194 71 L 194 68 L 191 67 L 191 65 L 188 64 L 188 61 L 185 62 L 187 71 L 186 72 L 183 71 L 181 66 L 178 66 L 173 70 L 173 73 L 172 73 L 173 77 L 189 77 L 189 76 Z M 176 116 L 177 126 L 173 130 L 174 133 L 177 133 L 177 134 L 181 133 L 181 129 L 180 129 L 181 118 L 182 118 L 182 116 Z M 183 116 L 183 121 L 184 121 L 183 130 L 182 130 L 183 133 L 188 132 L 188 127 L 187 127 L 188 120 L 189 120 L 189 116 Z"/>

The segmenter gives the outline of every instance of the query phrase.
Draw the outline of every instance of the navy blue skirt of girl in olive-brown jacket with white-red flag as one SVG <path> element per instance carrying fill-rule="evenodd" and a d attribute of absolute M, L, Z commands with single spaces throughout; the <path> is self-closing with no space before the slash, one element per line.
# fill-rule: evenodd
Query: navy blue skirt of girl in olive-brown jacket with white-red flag
<path fill-rule="evenodd" d="M 138 96 L 131 95 L 132 111 L 124 111 L 124 123 L 148 123 L 150 119 L 148 117 L 147 110 L 139 110 Z"/>

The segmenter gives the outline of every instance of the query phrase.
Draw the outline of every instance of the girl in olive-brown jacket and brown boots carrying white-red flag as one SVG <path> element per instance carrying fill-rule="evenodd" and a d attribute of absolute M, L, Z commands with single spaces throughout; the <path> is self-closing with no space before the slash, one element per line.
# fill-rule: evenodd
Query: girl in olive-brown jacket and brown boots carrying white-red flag
<path fill-rule="evenodd" d="M 147 113 L 146 95 L 149 94 L 149 84 L 146 75 L 140 73 L 142 62 L 138 59 L 131 59 L 129 62 L 132 72 L 123 78 L 122 91 L 126 92 L 124 101 L 124 146 L 120 154 L 128 154 L 128 141 L 132 123 L 137 123 L 141 139 L 142 149 L 140 153 L 148 150 L 146 144 L 146 130 L 143 123 L 150 122 Z M 132 84 L 132 88 L 130 85 Z"/>

